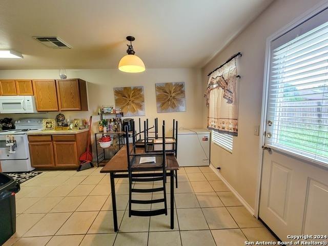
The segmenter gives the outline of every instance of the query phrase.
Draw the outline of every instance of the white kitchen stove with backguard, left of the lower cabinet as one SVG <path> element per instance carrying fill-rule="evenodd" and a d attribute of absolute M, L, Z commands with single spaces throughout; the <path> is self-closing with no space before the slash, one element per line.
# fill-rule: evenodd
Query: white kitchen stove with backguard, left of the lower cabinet
<path fill-rule="evenodd" d="M 42 130 L 42 119 L 19 119 L 15 121 L 15 127 L 16 129 L 0 131 L 2 171 L 32 171 L 34 168 L 31 167 L 29 141 L 26 133 Z"/>

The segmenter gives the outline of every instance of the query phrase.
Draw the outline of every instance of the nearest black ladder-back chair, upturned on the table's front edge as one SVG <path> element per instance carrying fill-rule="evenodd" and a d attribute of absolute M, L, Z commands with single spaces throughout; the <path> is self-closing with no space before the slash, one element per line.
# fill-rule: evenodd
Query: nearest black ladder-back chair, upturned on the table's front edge
<path fill-rule="evenodd" d="M 134 125 L 134 122 L 133 122 Z M 155 216 L 160 214 L 168 214 L 167 208 L 167 197 L 166 197 L 166 151 L 165 141 L 163 140 L 163 149 L 157 153 L 137 153 L 136 151 L 136 134 L 133 132 L 132 146 L 129 142 L 128 128 L 126 131 L 127 141 L 127 158 L 128 158 L 128 172 L 129 172 L 129 217 L 131 216 Z M 165 139 L 165 121 L 162 125 L 162 139 Z M 132 149 L 131 149 L 132 148 Z M 142 157 L 155 157 L 155 162 L 140 163 Z M 142 177 L 137 177 L 135 174 L 142 171 Z M 156 175 L 155 175 L 156 171 Z M 135 189 L 133 188 L 134 182 L 154 182 L 162 181 L 162 187 L 152 189 Z M 151 199 L 151 200 L 137 200 L 132 199 L 134 193 L 152 193 L 152 192 L 163 192 L 163 198 Z M 151 204 L 151 203 L 164 203 L 163 209 L 157 210 L 133 210 L 132 204 Z"/>

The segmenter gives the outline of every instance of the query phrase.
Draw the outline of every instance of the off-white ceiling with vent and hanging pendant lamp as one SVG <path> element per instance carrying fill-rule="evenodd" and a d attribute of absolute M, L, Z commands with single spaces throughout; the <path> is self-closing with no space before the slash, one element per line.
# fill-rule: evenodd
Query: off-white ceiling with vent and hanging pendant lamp
<path fill-rule="evenodd" d="M 272 0 L 0 1 L 0 69 L 117 68 L 126 36 L 146 68 L 201 67 Z M 58 36 L 51 49 L 32 36 Z M 236 51 L 237 52 L 237 51 Z"/>

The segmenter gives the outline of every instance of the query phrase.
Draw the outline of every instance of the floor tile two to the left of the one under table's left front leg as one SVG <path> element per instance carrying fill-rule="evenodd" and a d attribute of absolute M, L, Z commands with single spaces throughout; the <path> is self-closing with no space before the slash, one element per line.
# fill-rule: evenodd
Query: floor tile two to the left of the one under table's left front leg
<path fill-rule="evenodd" d="M 63 226 L 72 213 L 48 213 L 40 219 L 24 237 L 52 236 Z"/>

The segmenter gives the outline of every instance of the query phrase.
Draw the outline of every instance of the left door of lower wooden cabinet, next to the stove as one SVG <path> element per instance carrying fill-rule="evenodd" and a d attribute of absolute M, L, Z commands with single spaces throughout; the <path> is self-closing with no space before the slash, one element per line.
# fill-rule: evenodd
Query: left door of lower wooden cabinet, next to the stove
<path fill-rule="evenodd" d="M 30 157 L 33 168 L 54 168 L 52 142 L 30 142 Z"/>

